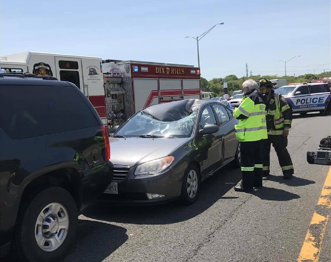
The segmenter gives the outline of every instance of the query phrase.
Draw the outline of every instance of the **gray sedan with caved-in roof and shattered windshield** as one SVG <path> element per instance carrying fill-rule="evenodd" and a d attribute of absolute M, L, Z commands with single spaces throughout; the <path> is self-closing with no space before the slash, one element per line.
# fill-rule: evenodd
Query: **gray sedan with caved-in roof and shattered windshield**
<path fill-rule="evenodd" d="M 101 200 L 194 203 L 202 181 L 230 162 L 240 166 L 237 123 L 218 101 L 187 99 L 140 110 L 110 139 L 114 178 Z"/>

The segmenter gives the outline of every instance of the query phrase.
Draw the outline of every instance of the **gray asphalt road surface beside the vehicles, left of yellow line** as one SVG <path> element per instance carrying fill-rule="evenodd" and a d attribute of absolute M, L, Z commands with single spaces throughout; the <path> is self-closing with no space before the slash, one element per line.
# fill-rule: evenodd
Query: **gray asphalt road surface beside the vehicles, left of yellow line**
<path fill-rule="evenodd" d="M 79 216 L 64 261 L 296 261 L 330 168 L 308 164 L 306 152 L 330 134 L 331 116 L 295 115 L 288 145 L 295 177 L 282 178 L 272 148 L 271 175 L 254 195 L 235 192 L 240 169 L 226 167 L 192 206 L 92 206 Z M 329 221 L 320 262 L 331 261 L 330 247 Z"/>

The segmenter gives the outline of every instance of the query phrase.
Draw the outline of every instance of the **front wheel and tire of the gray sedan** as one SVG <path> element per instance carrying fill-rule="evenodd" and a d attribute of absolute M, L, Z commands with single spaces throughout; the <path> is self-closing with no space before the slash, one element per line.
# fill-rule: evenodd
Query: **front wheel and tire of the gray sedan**
<path fill-rule="evenodd" d="M 197 201 L 200 192 L 200 181 L 200 172 L 197 165 L 189 165 L 183 176 L 180 195 L 181 202 L 184 205 L 191 205 Z"/>

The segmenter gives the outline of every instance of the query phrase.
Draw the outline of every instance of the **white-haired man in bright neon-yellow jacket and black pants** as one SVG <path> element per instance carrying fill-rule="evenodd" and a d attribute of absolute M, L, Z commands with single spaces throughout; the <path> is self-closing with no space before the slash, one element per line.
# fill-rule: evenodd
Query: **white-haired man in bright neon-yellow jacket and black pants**
<path fill-rule="evenodd" d="M 265 104 L 258 92 L 258 83 L 252 79 L 243 83 L 243 100 L 233 111 L 239 120 L 235 125 L 236 137 L 240 142 L 241 172 L 243 179 L 235 191 L 253 192 L 262 186 L 262 139 L 267 138 Z"/>

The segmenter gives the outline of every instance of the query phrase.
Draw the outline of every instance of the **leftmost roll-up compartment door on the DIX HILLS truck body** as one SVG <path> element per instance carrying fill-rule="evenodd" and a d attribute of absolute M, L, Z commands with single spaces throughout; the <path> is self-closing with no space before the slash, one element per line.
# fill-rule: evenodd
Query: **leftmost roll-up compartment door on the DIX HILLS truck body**
<path fill-rule="evenodd" d="M 133 78 L 134 106 L 135 111 L 158 104 L 158 80 Z"/>

